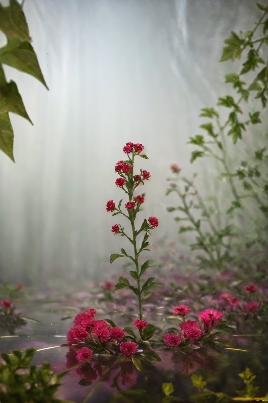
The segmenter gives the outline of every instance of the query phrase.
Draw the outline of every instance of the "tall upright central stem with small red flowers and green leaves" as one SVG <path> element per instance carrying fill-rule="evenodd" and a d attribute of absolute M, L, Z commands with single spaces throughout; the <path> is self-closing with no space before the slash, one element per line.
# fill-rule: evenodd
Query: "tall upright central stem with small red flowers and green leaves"
<path fill-rule="evenodd" d="M 119 204 L 117 207 L 115 207 L 115 202 L 113 200 L 109 200 L 106 204 L 106 210 L 107 212 L 113 212 L 113 216 L 117 214 L 121 214 L 124 217 L 126 217 L 130 224 L 131 224 L 131 230 L 132 230 L 132 235 L 127 235 L 125 233 L 125 228 L 122 227 L 120 224 L 115 224 L 112 226 L 112 232 L 114 235 L 116 234 L 121 234 L 121 236 L 127 237 L 129 242 L 133 245 L 134 249 L 134 256 L 130 256 L 126 253 L 125 249 L 121 249 L 121 253 L 112 253 L 110 256 L 110 263 L 112 264 L 115 259 L 117 258 L 122 258 L 122 257 L 127 257 L 135 265 L 135 270 L 131 270 L 130 274 L 134 278 L 134 280 L 137 283 L 137 287 L 134 287 L 129 283 L 129 280 L 126 277 L 119 277 L 119 282 L 115 285 L 115 290 L 129 287 L 135 295 L 137 295 L 138 302 L 139 302 L 139 319 L 142 320 L 142 310 L 141 310 L 141 300 L 144 298 L 149 297 L 151 294 L 153 294 L 153 291 L 148 291 L 148 289 L 153 286 L 161 283 L 156 283 L 154 282 L 154 277 L 149 277 L 143 284 L 141 283 L 141 276 L 145 272 L 145 270 L 150 267 L 149 266 L 149 260 L 147 260 L 145 263 L 143 263 L 141 266 L 139 266 L 139 255 L 142 251 L 149 251 L 147 248 L 149 245 L 148 238 L 150 234 L 150 230 L 153 228 L 156 228 L 158 226 L 158 219 L 156 217 L 149 217 L 148 219 L 144 219 L 143 223 L 141 224 L 141 227 L 137 230 L 135 228 L 135 219 L 137 216 L 137 213 L 140 210 L 141 204 L 144 203 L 145 199 L 145 193 L 142 193 L 141 195 L 135 195 L 134 196 L 134 190 L 139 186 L 143 185 L 145 181 L 148 181 L 149 178 L 151 177 L 150 172 L 146 170 L 141 170 L 137 174 L 134 174 L 134 158 L 139 156 L 141 158 L 147 159 L 148 157 L 145 154 L 141 154 L 143 151 L 143 145 L 137 143 L 127 143 L 125 147 L 123 147 L 123 152 L 127 154 L 128 159 L 123 161 L 117 162 L 115 166 L 115 172 L 119 175 L 119 177 L 116 179 L 115 184 L 117 187 L 122 189 L 128 196 L 128 201 L 125 204 L 125 209 L 123 211 L 121 210 L 121 203 L 123 199 L 120 200 Z M 137 245 L 137 237 L 139 234 L 142 232 L 145 232 L 145 235 L 143 236 L 143 240 L 141 242 L 141 246 L 139 247 Z M 155 266 L 159 267 L 159 266 Z"/>

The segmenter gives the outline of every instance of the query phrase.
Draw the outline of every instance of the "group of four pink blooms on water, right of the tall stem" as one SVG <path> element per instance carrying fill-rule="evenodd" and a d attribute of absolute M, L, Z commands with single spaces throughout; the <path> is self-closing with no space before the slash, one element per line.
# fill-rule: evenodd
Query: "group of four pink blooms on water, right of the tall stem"
<path fill-rule="evenodd" d="M 173 308 L 173 313 L 184 317 L 190 310 L 191 308 L 187 305 L 178 305 Z M 191 343 L 195 340 L 199 340 L 204 331 L 216 326 L 222 317 L 223 314 L 215 309 L 207 309 L 199 312 L 198 320 L 203 322 L 204 330 L 200 328 L 197 320 L 186 320 L 180 324 L 182 339 L 190 339 Z M 169 347 L 177 347 L 182 339 L 175 333 L 165 333 L 163 336 L 164 343 Z"/>

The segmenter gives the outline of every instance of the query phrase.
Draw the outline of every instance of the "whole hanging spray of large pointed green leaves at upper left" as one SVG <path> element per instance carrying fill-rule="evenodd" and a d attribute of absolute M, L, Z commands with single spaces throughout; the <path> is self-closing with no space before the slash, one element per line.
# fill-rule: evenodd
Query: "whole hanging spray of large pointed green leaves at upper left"
<path fill-rule="evenodd" d="M 48 89 L 37 56 L 31 45 L 29 28 L 22 9 L 16 0 L 8 7 L 0 3 L 0 30 L 6 35 L 7 44 L 0 48 L 0 149 L 14 161 L 14 134 L 9 112 L 29 120 L 33 125 L 14 81 L 6 81 L 3 64 L 30 74 Z"/>

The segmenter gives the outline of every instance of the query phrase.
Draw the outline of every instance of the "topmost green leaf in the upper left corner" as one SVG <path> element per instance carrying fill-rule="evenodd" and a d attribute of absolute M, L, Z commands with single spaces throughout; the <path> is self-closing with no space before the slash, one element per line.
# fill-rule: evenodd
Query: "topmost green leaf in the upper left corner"
<path fill-rule="evenodd" d="M 0 3 L 0 30 L 6 37 L 18 37 L 21 41 L 31 41 L 24 12 L 16 0 L 10 0 L 8 7 Z"/>

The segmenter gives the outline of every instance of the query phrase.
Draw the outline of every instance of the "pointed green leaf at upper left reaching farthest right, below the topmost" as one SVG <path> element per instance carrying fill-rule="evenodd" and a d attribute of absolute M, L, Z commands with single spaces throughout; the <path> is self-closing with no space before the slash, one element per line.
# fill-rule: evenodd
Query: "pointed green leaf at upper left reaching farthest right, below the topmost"
<path fill-rule="evenodd" d="M 0 49 L 0 63 L 32 75 L 48 89 L 36 53 L 29 42 L 14 38 L 8 40 L 6 46 Z"/>

